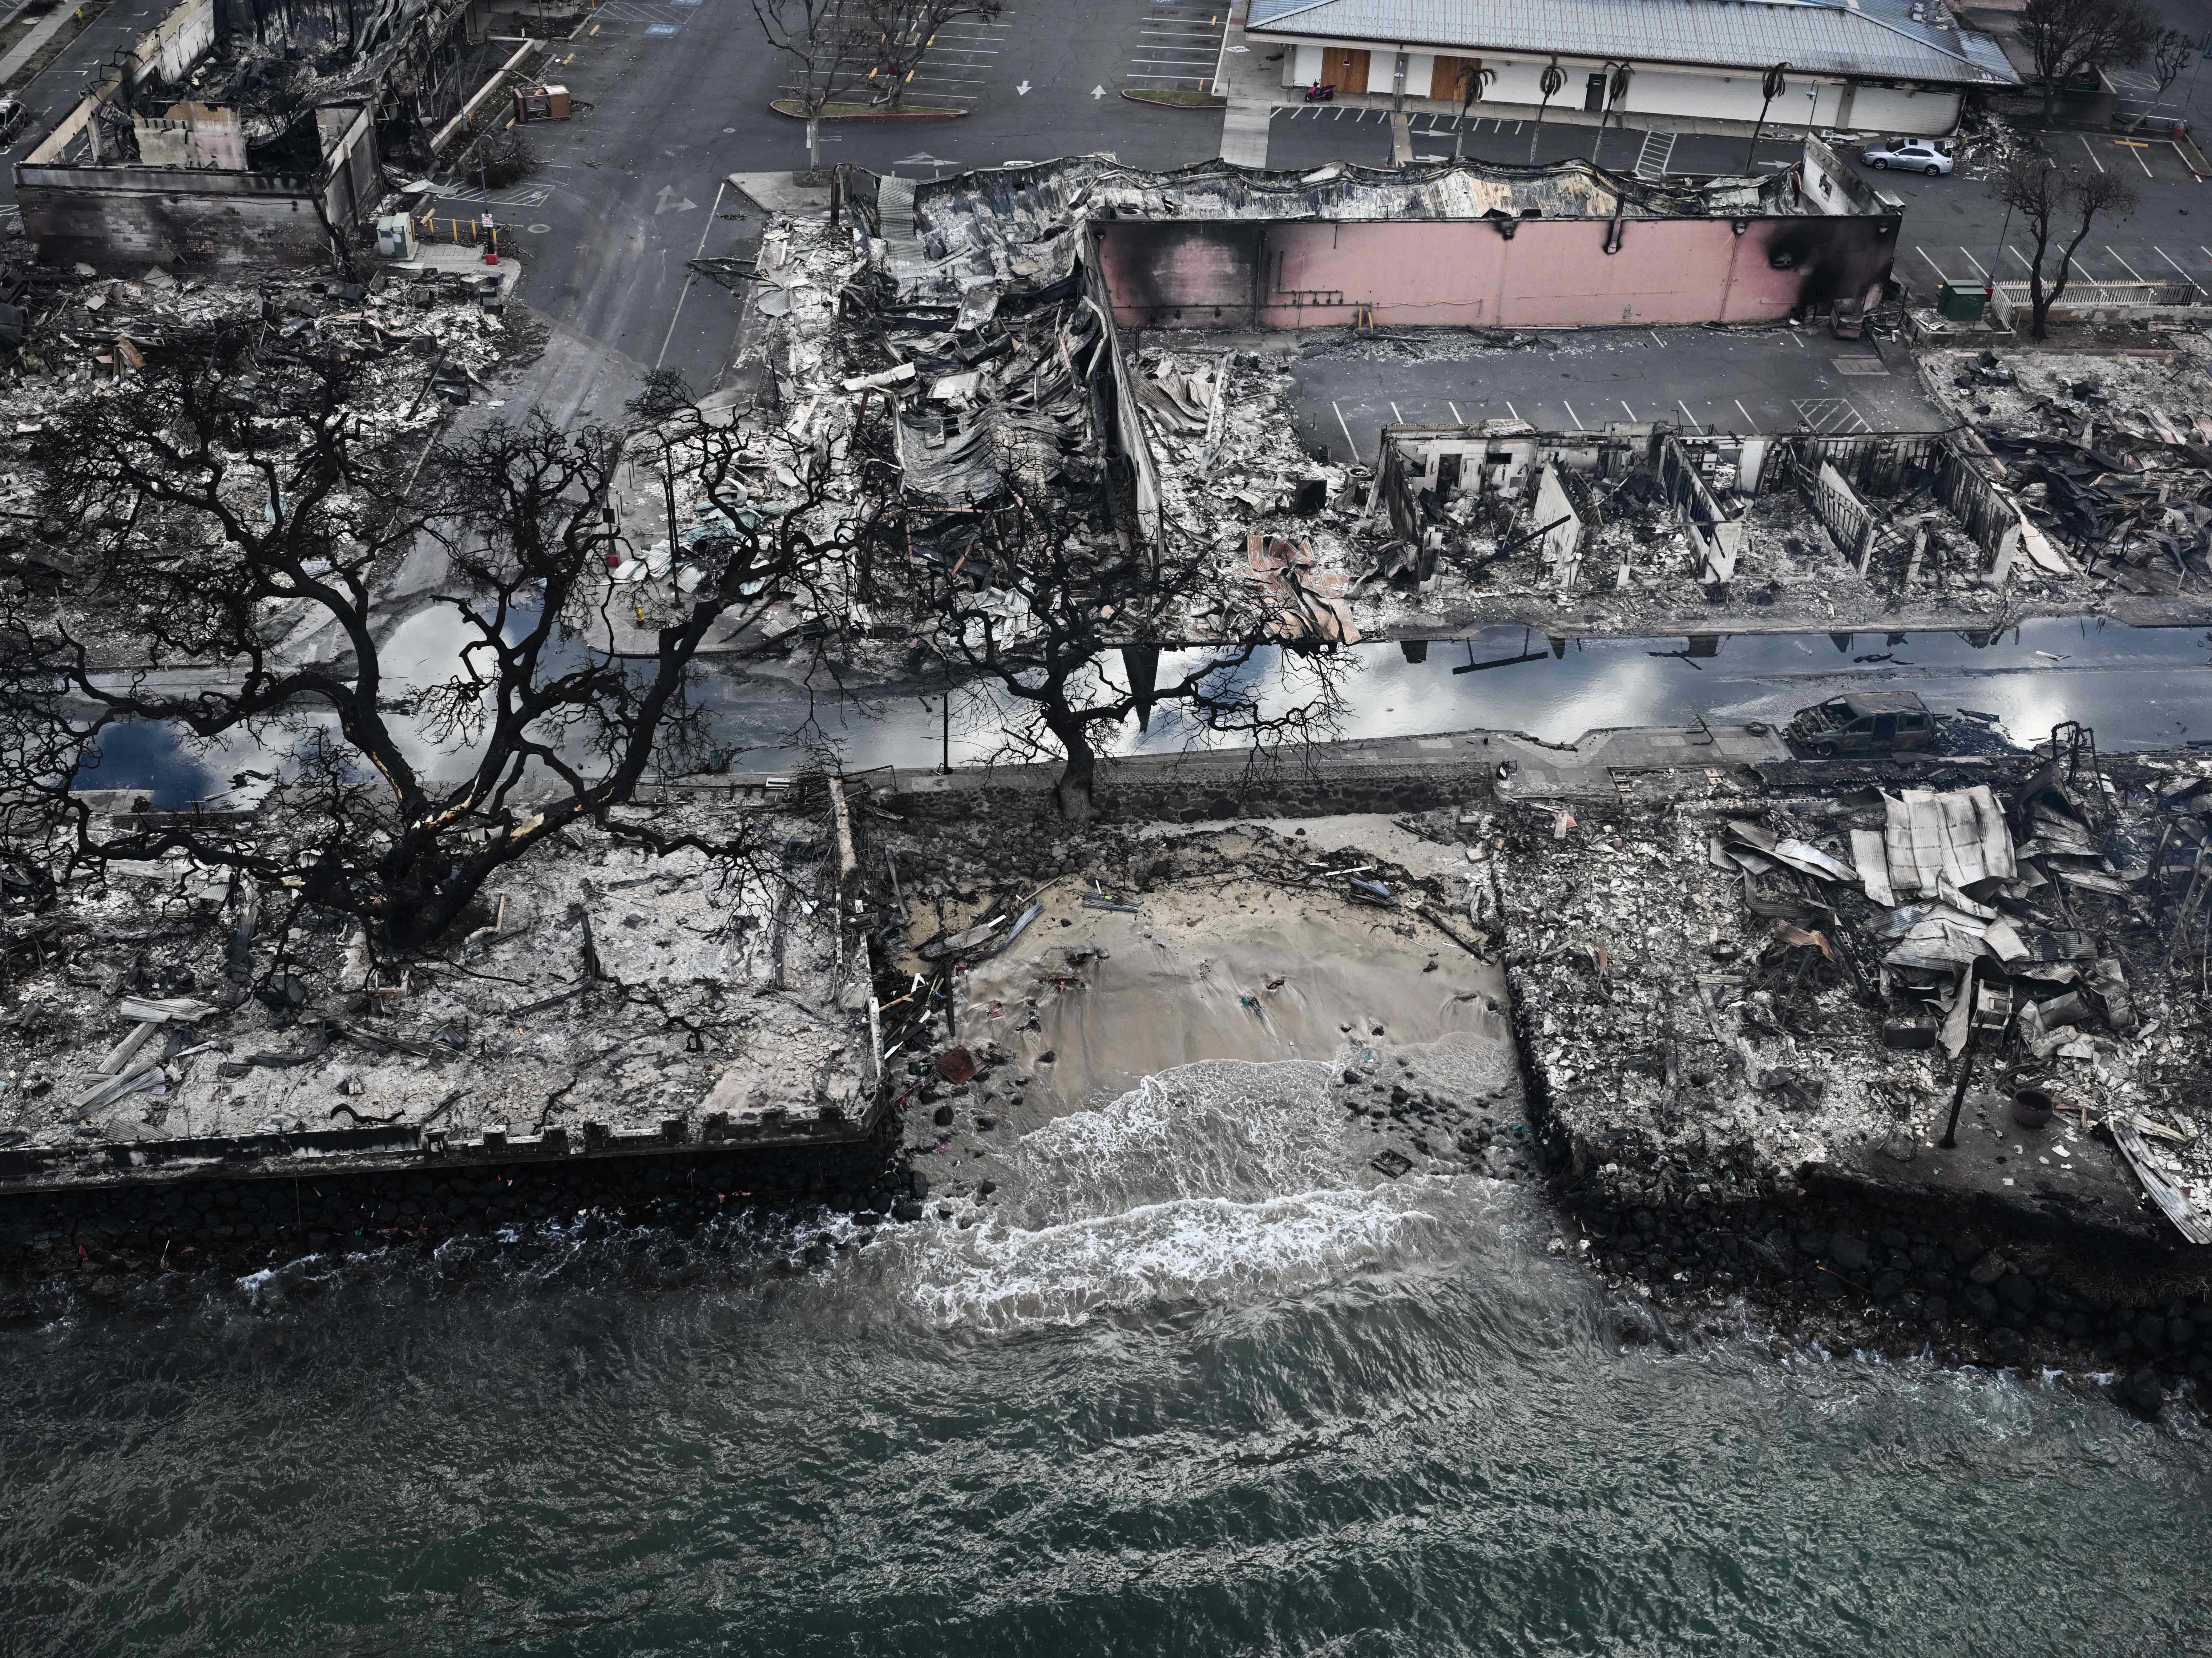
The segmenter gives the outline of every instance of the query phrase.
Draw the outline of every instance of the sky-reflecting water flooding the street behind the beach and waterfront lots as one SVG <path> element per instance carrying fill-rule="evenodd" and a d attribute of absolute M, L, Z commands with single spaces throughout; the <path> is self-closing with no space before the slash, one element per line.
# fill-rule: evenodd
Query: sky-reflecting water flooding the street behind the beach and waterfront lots
<path fill-rule="evenodd" d="M 436 641 L 409 634 L 405 668 L 431 672 Z M 1199 652 L 1168 652 L 1166 683 Z M 2212 641 L 2194 628 L 2121 628 L 2101 621 L 2026 621 L 1989 634 L 1705 634 L 1697 639 L 1546 639 L 1524 628 L 1482 628 L 1460 641 L 1356 646 L 1345 657 L 1345 712 L 1334 736 L 1383 738 L 1455 730 L 1528 732 L 1571 743 L 1615 725 L 1785 721 L 1798 707 L 1849 688 L 1911 690 L 1936 710 L 1995 714 L 2015 743 L 2042 738 L 2059 721 L 2081 721 L 2104 749 L 2212 741 Z M 1124 683 L 1119 661 L 1102 672 Z M 1296 659 L 1292 670 L 1296 672 Z M 1245 679 L 1270 710 L 1305 696 L 1283 652 L 1254 657 Z M 843 696 L 827 683 L 710 672 L 701 692 L 710 745 L 737 769 L 812 763 L 821 749 L 847 769 L 933 767 L 1004 756 L 1002 703 L 984 685 L 951 696 L 947 727 L 938 681 L 872 688 Z M 1203 741 L 1172 710 L 1150 730 L 1135 721 L 1108 743 L 1119 754 L 1175 754 Z M 422 747 L 436 776 L 469 767 L 465 747 Z M 84 787 L 137 787 L 157 807 L 210 798 L 252 756 L 230 745 L 215 756 L 170 734 L 131 732 L 108 743 Z"/>

